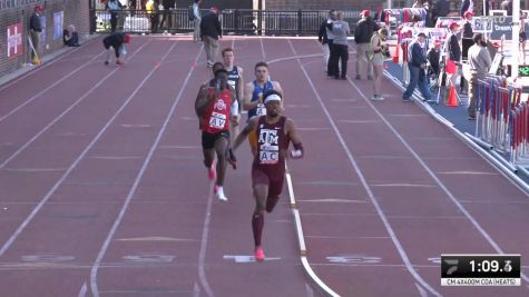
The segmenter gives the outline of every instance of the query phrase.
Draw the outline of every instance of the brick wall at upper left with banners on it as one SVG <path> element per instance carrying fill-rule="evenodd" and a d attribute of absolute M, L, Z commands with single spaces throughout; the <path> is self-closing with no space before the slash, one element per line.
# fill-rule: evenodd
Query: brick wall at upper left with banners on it
<path fill-rule="evenodd" d="M 33 2 L 33 3 L 30 3 Z M 0 0 L 0 76 L 22 67 L 30 60 L 30 47 L 28 42 L 29 19 L 37 1 L 9 1 Z M 48 0 L 46 10 L 42 13 L 46 17 L 46 42 L 40 47 L 41 56 L 49 55 L 59 48 L 62 48 L 62 37 L 53 39 L 53 13 L 63 12 L 63 28 L 69 23 L 74 23 L 82 38 L 89 32 L 88 22 L 88 1 L 87 0 Z M 23 53 L 20 56 L 8 57 L 8 27 L 20 23 L 21 36 L 19 40 L 22 44 Z M 13 40 L 11 38 L 11 40 Z M 11 52 L 12 53 L 12 52 Z"/>

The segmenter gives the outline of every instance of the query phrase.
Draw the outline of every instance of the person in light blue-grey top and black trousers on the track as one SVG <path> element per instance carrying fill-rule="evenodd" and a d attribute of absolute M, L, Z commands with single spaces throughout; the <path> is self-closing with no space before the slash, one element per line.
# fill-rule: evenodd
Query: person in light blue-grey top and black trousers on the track
<path fill-rule="evenodd" d="M 331 73 L 335 79 L 346 79 L 347 75 L 347 60 L 349 60 L 349 46 L 347 46 L 347 36 L 351 33 L 349 29 L 349 23 L 343 20 L 343 11 L 336 12 L 337 20 L 332 24 L 332 31 L 334 34 L 333 41 L 333 59 L 330 61 L 332 63 L 332 69 L 334 72 Z M 342 71 L 339 70 L 339 65 L 342 63 Z"/>

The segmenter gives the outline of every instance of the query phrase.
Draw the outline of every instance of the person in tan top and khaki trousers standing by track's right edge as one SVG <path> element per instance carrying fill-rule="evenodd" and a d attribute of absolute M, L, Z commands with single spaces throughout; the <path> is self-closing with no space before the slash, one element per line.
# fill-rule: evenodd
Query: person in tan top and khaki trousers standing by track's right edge
<path fill-rule="evenodd" d="M 381 96 L 380 83 L 382 81 L 382 77 L 384 76 L 384 60 L 386 58 L 384 56 L 384 52 L 389 52 L 388 43 L 385 43 L 386 38 L 388 29 L 382 28 L 373 33 L 370 43 L 370 52 L 372 52 L 371 61 L 373 63 L 374 69 L 373 98 L 371 99 L 376 101 L 384 100 L 384 98 Z"/>

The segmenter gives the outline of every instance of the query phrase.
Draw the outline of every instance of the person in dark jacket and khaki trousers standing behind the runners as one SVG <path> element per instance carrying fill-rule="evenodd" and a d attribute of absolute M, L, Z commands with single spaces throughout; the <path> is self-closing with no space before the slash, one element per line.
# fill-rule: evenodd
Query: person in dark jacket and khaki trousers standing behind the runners
<path fill-rule="evenodd" d="M 218 8 L 212 7 L 200 21 L 200 37 L 207 57 L 207 68 L 212 68 L 218 55 L 218 40 L 223 39 L 223 28 L 218 20 Z"/>

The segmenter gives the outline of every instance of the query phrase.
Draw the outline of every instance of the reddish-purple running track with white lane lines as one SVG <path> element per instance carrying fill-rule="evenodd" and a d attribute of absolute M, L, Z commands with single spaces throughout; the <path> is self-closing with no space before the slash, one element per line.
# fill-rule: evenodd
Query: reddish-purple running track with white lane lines
<path fill-rule="evenodd" d="M 311 39 L 226 38 L 285 90 L 306 157 L 288 162 L 307 259 L 341 296 L 528 296 L 440 286 L 440 254 L 529 253 L 526 194 L 384 82 L 325 78 Z M 319 296 L 284 190 L 253 263 L 247 147 L 212 197 L 193 105 L 210 76 L 185 37 L 99 40 L 0 87 L 1 296 Z M 195 67 L 196 65 L 196 67 Z M 353 59 L 350 62 L 353 73 Z"/>

